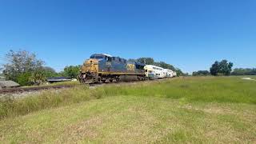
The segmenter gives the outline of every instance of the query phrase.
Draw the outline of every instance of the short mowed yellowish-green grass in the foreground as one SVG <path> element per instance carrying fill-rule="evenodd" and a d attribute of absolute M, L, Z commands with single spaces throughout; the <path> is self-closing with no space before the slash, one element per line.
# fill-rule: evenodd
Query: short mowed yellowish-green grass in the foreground
<path fill-rule="evenodd" d="M 115 96 L 0 122 L 1 142 L 256 142 L 249 104 Z"/>

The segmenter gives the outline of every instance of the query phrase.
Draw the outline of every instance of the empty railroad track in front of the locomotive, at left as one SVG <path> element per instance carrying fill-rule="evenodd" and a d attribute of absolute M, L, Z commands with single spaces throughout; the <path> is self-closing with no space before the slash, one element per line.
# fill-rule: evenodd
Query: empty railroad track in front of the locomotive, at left
<path fill-rule="evenodd" d="M 70 88 L 74 86 L 38 86 L 38 87 L 23 87 L 23 88 L 11 88 L 11 89 L 2 89 L 0 94 L 17 94 L 30 91 L 39 91 L 39 90 L 50 90 L 50 89 L 62 89 Z"/>

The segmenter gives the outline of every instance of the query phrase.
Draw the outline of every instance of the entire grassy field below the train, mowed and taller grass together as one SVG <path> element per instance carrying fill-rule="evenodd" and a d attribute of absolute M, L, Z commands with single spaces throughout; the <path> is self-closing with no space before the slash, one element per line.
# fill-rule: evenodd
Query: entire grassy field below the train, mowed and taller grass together
<path fill-rule="evenodd" d="M 3 143 L 256 142 L 256 81 L 241 77 L 77 86 L 0 108 Z"/>

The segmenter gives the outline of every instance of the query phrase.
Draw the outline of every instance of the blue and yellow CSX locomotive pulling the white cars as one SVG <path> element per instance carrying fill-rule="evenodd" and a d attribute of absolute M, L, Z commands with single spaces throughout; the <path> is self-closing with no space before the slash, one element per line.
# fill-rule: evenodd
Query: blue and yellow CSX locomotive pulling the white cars
<path fill-rule="evenodd" d="M 93 54 L 81 66 L 78 78 L 82 83 L 118 82 L 120 76 L 136 76 L 138 80 L 145 80 L 144 66 L 109 54 Z"/>

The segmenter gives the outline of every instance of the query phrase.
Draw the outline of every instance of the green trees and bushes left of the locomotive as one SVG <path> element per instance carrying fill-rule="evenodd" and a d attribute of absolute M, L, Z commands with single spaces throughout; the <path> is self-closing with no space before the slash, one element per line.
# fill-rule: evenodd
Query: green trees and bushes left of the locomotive
<path fill-rule="evenodd" d="M 21 86 L 40 85 L 51 77 L 77 78 L 80 69 L 80 66 L 66 66 L 62 72 L 56 72 L 45 66 L 45 62 L 38 59 L 36 54 L 26 50 L 10 50 L 6 54 L 6 61 L 2 66 L 2 75 Z"/>

